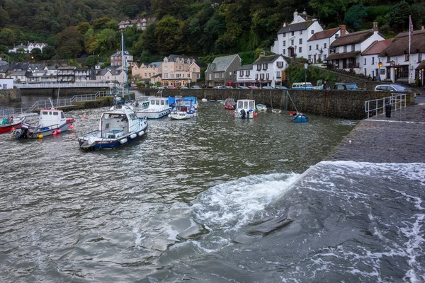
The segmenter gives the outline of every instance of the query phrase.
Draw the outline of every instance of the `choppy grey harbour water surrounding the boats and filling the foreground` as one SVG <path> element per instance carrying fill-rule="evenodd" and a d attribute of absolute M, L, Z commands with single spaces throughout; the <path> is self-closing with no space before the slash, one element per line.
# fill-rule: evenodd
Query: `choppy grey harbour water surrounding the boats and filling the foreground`
<path fill-rule="evenodd" d="M 81 151 L 103 110 L 0 135 L 1 282 L 425 281 L 424 163 L 322 161 L 355 122 L 204 103 Z"/>

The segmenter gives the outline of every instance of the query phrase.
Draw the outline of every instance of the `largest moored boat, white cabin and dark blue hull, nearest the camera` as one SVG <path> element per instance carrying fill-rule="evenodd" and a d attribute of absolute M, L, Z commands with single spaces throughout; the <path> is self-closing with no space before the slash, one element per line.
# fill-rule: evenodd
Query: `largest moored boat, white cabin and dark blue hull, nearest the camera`
<path fill-rule="evenodd" d="M 142 137 L 147 130 L 147 120 L 137 117 L 128 105 L 115 105 L 103 112 L 99 129 L 78 138 L 81 149 L 115 149 Z"/>

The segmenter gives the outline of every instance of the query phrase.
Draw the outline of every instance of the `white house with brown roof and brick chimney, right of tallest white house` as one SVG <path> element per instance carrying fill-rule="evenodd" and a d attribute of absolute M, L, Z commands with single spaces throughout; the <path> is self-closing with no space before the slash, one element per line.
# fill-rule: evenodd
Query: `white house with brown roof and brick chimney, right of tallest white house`
<path fill-rule="evenodd" d="M 312 64 L 326 60 L 330 53 L 331 43 L 340 35 L 345 34 L 348 34 L 345 25 L 339 25 L 338 28 L 331 28 L 329 30 L 322 30 L 314 33 L 314 35 L 307 40 L 307 59 L 309 59 Z"/>

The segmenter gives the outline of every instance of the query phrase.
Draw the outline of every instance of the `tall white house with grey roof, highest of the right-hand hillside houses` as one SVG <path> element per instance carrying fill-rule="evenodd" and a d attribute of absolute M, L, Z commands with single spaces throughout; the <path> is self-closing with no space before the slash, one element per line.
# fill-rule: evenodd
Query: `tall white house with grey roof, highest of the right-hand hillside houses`
<path fill-rule="evenodd" d="M 286 57 L 308 57 L 307 40 L 314 33 L 323 31 L 322 25 L 316 18 L 308 16 L 305 11 L 294 12 L 294 19 L 290 24 L 283 24 L 278 31 L 278 38 L 271 47 L 271 52 L 282 54 Z"/>

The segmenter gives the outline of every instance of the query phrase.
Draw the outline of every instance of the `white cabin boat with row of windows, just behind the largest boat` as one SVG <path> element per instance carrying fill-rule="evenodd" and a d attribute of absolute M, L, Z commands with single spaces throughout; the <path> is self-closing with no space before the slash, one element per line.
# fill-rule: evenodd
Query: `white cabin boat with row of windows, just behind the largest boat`
<path fill-rule="evenodd" d="M 147 100 L 136 101 L 134 104 L 135 114 L 139 118 L 159 119 L 169 115 L 173 109 L 169 105 L 168 98 L 150 96 Z"/>

